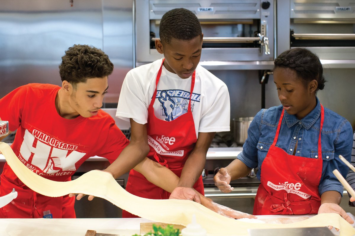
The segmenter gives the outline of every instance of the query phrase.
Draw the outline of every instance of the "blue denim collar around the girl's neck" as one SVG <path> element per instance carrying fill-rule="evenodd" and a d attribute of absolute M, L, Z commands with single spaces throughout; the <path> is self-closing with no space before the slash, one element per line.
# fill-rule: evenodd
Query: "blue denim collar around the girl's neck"
<path fill-rule="evenodd" d="M 284 119 L 286 121 L 287 127 L 291 127 L 296 123 L 301 123 L 301 125 L 308 130 L 311 126 L 318 120 L 318 117 L 321 115 L 321 103 L 316 97 L 316 107 L 308 113 L 302 120 L 297 119 L 295 115 L 289 115 L 287 112 L 284 112 Z"/>

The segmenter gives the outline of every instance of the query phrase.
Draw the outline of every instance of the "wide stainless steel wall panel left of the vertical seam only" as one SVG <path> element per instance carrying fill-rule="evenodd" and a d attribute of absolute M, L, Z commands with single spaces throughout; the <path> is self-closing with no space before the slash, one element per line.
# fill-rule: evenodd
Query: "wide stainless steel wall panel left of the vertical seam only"
<path fill-rule="evenodd" d="M 31 82 L 61 85 L 58 65 L 73 44 L 102 48 L 101 2 L 5 0 L 0 10 L 0 97 Z"/>

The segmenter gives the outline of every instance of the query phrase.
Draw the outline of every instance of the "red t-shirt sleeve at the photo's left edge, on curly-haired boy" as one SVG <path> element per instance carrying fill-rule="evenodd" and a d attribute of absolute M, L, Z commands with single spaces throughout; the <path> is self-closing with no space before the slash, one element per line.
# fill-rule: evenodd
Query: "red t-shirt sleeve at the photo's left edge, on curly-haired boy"
<path fill-rule="evenodd" d="M 10 131 L 15 131 L 21 125 L 27 88 L 27 85 L 18 87 L 0 99 L 0 118 L 1 120 L 9 121 Z"/>

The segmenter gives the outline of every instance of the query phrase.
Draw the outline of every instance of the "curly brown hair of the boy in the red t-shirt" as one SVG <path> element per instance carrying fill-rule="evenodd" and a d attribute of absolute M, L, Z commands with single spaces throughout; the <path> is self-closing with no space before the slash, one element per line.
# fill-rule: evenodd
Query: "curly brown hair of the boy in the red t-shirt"
<path fill-rule="evenodd" d="M 85 83 L 90 78 L 102 78 L 113 71 L 113 63 L 102 50 L 89 45 L 74 45 L 65 51 L 59 65 L 61 80 L 76 84 Z"/>

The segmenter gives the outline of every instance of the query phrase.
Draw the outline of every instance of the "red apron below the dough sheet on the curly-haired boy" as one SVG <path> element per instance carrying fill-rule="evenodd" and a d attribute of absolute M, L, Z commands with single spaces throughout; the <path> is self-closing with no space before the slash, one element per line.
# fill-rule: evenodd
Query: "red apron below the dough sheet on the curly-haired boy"
<path fill-rule="evenodd" d="M 24 185 L 7 163 L 0 183 L 0 196 L 9 194 L 13 188 L 18 194 L 9 204 L 0 208 L 0 218 L 75 218 L 75 197 L 38 194 Z"/>

